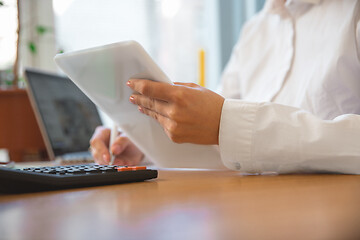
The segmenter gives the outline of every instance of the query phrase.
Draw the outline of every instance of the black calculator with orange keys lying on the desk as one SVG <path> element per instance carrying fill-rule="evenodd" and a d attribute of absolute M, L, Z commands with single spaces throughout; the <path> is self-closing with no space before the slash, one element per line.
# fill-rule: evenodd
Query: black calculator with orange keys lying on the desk
<path fill-rule="evenodd" d="M 144 166 L 71 165 L 10 169 L 0 167 L 0 192 L 26 193 L 140 182 L 157 178 Z"/>

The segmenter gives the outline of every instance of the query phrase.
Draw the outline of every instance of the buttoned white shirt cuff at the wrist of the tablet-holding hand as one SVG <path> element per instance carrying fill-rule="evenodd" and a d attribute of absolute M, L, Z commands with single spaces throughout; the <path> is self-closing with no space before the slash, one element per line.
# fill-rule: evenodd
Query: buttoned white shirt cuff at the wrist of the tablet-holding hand
<path fill-rule="evenodd" d="M 226 99 L 219 129 L 220 156 L 227 168 L 259 172 L 252 160 L 253 129 L 259 103 Z"/>

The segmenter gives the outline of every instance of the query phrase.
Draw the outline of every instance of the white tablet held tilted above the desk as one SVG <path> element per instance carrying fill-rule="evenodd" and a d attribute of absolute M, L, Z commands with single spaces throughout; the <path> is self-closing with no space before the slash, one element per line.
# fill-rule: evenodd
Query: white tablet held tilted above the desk
<path fill-rule="evenodd" d="M 176 144 L 152 118 L 129 102 L 130 78 L 172 84 L 135 41 L 58 54 L 56 64 L 160 167 L 224 169 L 215 146 Z"/>

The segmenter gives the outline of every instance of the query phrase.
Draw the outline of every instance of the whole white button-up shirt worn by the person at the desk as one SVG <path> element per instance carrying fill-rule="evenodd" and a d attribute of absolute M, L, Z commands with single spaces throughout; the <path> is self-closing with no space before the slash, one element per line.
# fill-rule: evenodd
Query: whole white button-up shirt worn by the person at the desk
<path fill-rule="evenodd" d="M 360 174 L 360 1 L 271 0 L 224 71 L 219 148 L 245 172 Z"/>

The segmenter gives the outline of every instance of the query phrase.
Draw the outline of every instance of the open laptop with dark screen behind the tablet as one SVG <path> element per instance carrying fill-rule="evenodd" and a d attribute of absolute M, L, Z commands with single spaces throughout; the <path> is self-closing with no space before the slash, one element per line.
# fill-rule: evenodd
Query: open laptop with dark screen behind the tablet
<path fill-rule="evenodd" d="M 26 69 L 25 79 L 49 159 L 92 162 L 89 140 L 102 125 L 94 103 L 67 77 Z"/>

